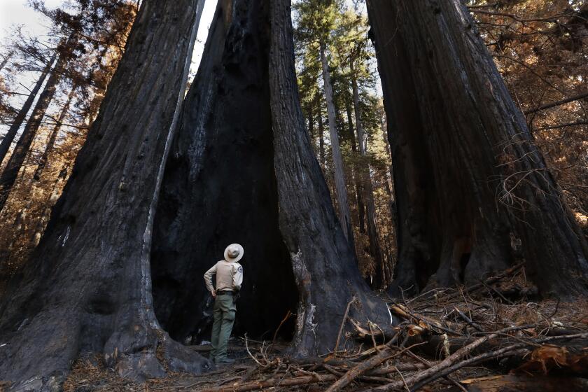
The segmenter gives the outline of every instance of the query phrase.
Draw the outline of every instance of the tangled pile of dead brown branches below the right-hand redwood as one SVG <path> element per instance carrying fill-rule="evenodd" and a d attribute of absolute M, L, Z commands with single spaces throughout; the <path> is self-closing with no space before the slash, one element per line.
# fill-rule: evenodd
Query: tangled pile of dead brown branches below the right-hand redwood
<path fill-rule="evenodd" d="M 204 391 L 307 384 L 320 384 L 329 392 L 351 384 L 361 391 L 416 391 L 436 382 L 466 391 L 463 385 L 472 379 L 462 379 L 460 371 L 482 364 L 496 368 L 493 374 L 588 375 L 585 310 L 574 314 L 566 309 L 567 318 L 557 319 L 559 302 L 509 300 L 505 287 L 518 286 L 517 295 L 532 292 L 516 283 L 521 274 L 517 265 L 469 288 L 437 288 L 412 300 L 393 301 L 389 309 L 402 322 L 392 334 L 350 318 L 351 299 L 332 352 L 300 361 L 272 355 L 271 344 L 256 352 L 247 348 L 256 365 L 231 383 Z M 352 325 L 354 332 L 342 334 L 344 325 Z"/>

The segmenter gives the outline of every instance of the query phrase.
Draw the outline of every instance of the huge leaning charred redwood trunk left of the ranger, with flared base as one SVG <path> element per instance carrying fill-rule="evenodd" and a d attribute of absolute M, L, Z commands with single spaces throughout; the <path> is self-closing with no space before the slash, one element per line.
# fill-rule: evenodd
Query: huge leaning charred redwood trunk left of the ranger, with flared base
<path fill-rule="evenodd" d="M 79 354 L 123 377 L 200 372 L 153 312 L 156 195 L 181 109 L 202 1 L 144 0 L 71 179 L 38 248 L 0 307 L 0 379 L 53 388 Z M 19 384 L 22 381 L 24 384 Z"/>

